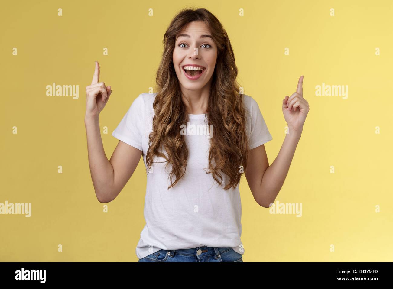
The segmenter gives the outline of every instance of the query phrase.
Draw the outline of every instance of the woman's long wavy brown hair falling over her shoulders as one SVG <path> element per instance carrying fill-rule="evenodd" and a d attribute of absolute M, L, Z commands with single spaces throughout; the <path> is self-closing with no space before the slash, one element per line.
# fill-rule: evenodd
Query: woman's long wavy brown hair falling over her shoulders
<path fill-rule="evenodd" d="M 239 184 L 248 159 L 248 135 L 246 133 L 246 110 L 242 104 L 243 95 L 236 81 L 238 69 L 231 42 L 219 20 L 207 9 L 184 9 L 171 21 L 164 38 L 164 51 L 156 74 L 156 97 L 153 103 L 154 117 L 152 132 L 149 134 L 149 149 L 146 164 L 151 166 L 154 155 L 164 158 L 170 164 L 169 174 L 173 186 L 184 176 L 187 166 L 188 149 L 180 125 L 187 123 L 187 107 L 182 101 L 179 80 L 173 65 L 173 50 L 176 35 L 189 22 L 202 20 L 210 28 L 217 46 L 217 62 L 212 75 L 206 116 L 215 133 L 210 138 L 209 171 L 213 179 L 222 186 L 221 173 L 229 177 L 224 190 L 235 189 Z M 165 150 L 167 155 L 162 153 Z M 241 167 L 242 166 L 242 167 Z M 175 177 L 174 182 L 172 182 Z"/>

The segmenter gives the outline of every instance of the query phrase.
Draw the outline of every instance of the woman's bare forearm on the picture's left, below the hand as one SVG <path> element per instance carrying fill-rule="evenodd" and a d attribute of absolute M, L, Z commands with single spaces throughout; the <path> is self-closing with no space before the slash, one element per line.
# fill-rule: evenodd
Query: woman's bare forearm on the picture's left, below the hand
<path fill-rule="evenodd" d="M 87 150 L 95 195 L 100 202 L 112 200 L 114 188 L 114 171 L 105 155 L 101 133 L 99 129 L 99 117 L 85 116 Z"/>

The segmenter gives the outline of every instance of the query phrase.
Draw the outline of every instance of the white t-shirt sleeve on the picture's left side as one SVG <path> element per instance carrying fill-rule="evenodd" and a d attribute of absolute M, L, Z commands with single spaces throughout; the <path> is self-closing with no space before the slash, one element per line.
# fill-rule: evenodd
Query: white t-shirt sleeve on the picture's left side
<path fill-rule="evenodd" d="M 113 131 L 112 136 L 132 145 L 133 147 L 143 151 L 142 149 L 142 132 L 144 123 L 144 101 L 143 95 L 140 94 L 131 104 L 130 108 L 123 116 L 119 125 Z"/>

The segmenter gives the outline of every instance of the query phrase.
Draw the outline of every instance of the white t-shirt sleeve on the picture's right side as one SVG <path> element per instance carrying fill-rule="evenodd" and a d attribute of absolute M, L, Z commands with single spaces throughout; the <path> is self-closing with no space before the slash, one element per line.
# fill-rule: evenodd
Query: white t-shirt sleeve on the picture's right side
<path fill-rule="evenodd" d="M 254 149 L 272 140 L 258 103 L 251 98 L 249 147 Z"/>

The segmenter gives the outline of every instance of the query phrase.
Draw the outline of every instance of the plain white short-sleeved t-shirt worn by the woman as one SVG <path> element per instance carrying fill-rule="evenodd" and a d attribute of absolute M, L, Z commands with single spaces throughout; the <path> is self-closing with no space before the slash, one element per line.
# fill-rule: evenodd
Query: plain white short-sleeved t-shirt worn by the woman
<path fill-rule="evenodd" d="M 209 163 L 209 130 L 192 129 L 193 125 L 207 127 L 205 114 L 189 114 L 189 131 L 184 135 L 188 148 L 186 173 L 168 190 L 170 185 L 165 159 L 154 156 L 151 169 L 146 165 L 149 133 L 154 116 L 153 101 L 156 93 L 142 93 L 131 104 L 112 136 L 143 151 L 147 171 L 144 226 L 136 247 L 139 259 L 160 249 L 176 250 L 195 247 L 232 247 L 244 254 L 241 242 L 241 199 L 239 185 L 235 190 L 223 190 L 207 174 Z M 243 95 L 248 114 L 247 131 L 250 149 L 272 140 L 257 102 Z M 194 127 L 195 128 L 195 127 Z M 184 130 L 183 132 L 187 132 Z M 207 133 L 205 133 L 207 132 Z M 213 129 L 212 133 L 215 131 Z M 251 133 L 251 134 L 250 134 Z M 184 134 L 184 133 L 183 133 Z M 166 155 L 166 152 L 163 152 Z M 205 170 L 204 170 L 205 169 Z M 223 185 L 229 177 L 221 172 Z M 174 177 L 173 177 L 174 181 Z"/>

